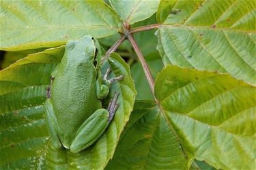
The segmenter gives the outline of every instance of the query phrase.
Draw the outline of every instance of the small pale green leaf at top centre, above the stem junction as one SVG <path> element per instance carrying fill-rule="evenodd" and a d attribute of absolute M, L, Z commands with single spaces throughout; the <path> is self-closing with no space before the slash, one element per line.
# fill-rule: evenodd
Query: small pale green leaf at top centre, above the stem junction
<path fill-rule="evenodd" d="M 128 24 L 134 24 L 152 16 L 159 4 L 159 0 L 109 0 L 120 19 Z"/>

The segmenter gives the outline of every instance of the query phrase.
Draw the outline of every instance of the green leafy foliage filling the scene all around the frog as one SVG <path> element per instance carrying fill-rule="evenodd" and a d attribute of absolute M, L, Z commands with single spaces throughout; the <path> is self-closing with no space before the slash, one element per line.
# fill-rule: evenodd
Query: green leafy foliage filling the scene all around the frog
<path fill-rule="evenodd" d="M 251 0 L 1 1 L 0 169 L 256 169 L 255 9 Z M 102 73 L 125 79 L 102 101 L 119 92 L 113 122 L 73 154 L 48 145 L 42 105 L 63 45 L 83 35 L 116 52 Z M 127 35 L 146 63 L 128 40 L 113 46 Z"/>

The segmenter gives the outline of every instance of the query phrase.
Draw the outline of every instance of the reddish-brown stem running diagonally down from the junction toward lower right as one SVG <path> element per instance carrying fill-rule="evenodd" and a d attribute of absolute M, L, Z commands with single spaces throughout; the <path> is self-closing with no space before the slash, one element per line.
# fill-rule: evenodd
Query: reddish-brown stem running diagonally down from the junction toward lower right
<path fill-rule="evenodd" d="M 139 46 L 137 45 L 136 41 L 132 37 L 132 34 L 128 35 L 128 39 L 130 41 L 130 44 L 132 44 L 132 47 L 134 48 L 134 51 L 136 52 L 136 54 L 139 58 L 139 61 L 141 61 L 141 65 L 142 65 L 143 71 L 146 75 L 147 82 L 150 85 L 150 90 L 152 91 L 152 95 L 154 97 L 154 100 L 156 101 L 156 103 L 158 103 L 158 100 L 156 99 L 155 94 L 154 94 L 155 83 L 154 83 L 154 78 L 153 78 L 153 76 L 150 72 L 150 68 L 148 67 L 147 62 L 145 61 L 145 58 L 144 58 L 143 54 L 141 53 L 141 50 L 139 49 Z"/>

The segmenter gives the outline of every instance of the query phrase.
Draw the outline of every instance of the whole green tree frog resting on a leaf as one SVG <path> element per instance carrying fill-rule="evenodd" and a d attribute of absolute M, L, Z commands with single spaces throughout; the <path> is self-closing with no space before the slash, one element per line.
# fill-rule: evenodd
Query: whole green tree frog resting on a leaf
<path fill-rule="evenodd" d="M 53 148 L 80 152 L 91 146 L 109 125 L 117 110 L 115 95 L 108 109 L 100 99 L 109 93 L 109 86 L 123 75 L 107 80 L 99 64 L 102 48 L 91 36 L 68 41 L 66 50 L 51 76 L 50 88 L 44 103 L 46 125 Z"/>

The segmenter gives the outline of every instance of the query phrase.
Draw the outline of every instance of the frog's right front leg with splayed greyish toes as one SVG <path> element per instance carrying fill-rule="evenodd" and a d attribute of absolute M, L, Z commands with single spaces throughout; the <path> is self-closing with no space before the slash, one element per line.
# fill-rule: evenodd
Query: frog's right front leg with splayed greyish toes
<path fill-rule="evenodd" d="M 109 86 L 117 81 L 117 80 L 123 80 L 124 75 L 119 75 L 115 78 L 111 78 L 110 80 L 107 80 L 107 77 L 111 71 L 111 68 L 106 70 L 106 73 L 104 74 L 103 78 L 100 73 L 100 70 L 98 70 L 98 78 L 96 81 L 96 92 L 97 92 L 97 97 L 98 99 L 104 99 L 106 95 L 109 94 Z"/>

